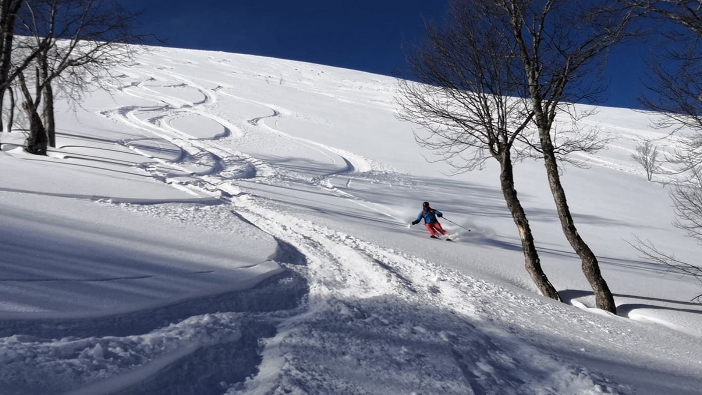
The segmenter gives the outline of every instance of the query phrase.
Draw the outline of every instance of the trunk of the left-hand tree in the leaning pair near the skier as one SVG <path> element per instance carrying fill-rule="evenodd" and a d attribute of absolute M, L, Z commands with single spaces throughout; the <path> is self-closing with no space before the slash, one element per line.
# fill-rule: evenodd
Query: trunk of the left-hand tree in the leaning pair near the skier
<path fill-rule="evenodd" d="M 509 152 L 503 154 L 500 161 L 500 183 L 502 193 L 505 197 L 507 208 L 512 213 L 512 219 L 519 230 L 519 238 L 522 240 L 522 250 L 524 250 L 524 264 L 527 272 L 531 275 L 531 279 L 536 283 L 536 287 L 541 291 L 541 295 L 550 297 L 551 299 L 561 300 L 556 289 L 548 281 L 548 277 L 541 269 L 541 260 L 539 260 L 536 246 L 534 245 L 534 236 L 531 234 L 529 220 L 527 214 L 524 213 L 522 203 L 517 198 L 517 190 L 515 189 L 514 174 L 512 172 L 512 159 Z"/>

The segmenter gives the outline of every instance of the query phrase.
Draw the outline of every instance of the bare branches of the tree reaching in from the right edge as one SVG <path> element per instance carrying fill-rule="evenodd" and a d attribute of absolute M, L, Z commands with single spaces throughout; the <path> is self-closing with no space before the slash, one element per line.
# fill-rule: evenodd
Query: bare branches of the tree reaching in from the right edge
<path fill-rule="evenodd" d="M 702 242 L 702 1 L 618 1 L 658 22 L 656 33 L 662 41 L 658 48 L 663 51 L 649 61 L 646 93 L 639 100 L 647 109 L 663 114 L 654 127 L 673 128 L 673 133 L 684 131 L 687 137 L 668 158 L 680 177 L 670 192 L 675 208 L 673 225 Z M 659 250 L 651 241 L 636 240 L 635 248 L 647 259 L 702 281 L 698 265 Z"/>

